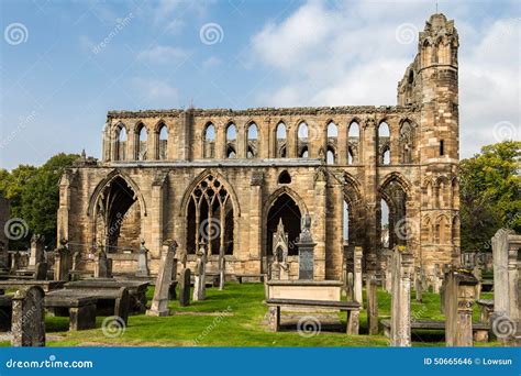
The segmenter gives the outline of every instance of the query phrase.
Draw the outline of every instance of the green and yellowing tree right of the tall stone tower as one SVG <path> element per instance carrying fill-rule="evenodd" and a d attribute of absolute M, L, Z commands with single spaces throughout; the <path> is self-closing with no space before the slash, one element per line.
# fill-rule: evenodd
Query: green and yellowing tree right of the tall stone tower
<path fill-rule="evenodd" d="M 500 228 L 521 231 L 521 142 L 484 146 L 461 163 L 462 248 L 489 248 Z"/>

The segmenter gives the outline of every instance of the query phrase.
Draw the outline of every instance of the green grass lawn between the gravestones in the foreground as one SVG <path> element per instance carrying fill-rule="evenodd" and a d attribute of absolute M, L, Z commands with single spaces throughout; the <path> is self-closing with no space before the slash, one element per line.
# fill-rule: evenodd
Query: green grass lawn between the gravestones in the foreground
<path fill-rule="evenodd" d="M 152 300 L 153 288 L 147 291 Z M 490 296 L 485 296 L 490 298 Z M 45 320 L 48 346 L 388 346 L 383 335 L 366 335 L 367 316 L 361 314 L 362 335 L 346 335 L 343 331 L 322 330 L 311 338 L 300 336 L 296 330 L 269 332 L 264 317 L 267 308 L 263 305 L 264 285 L 228 283 L 225 290 L 207 289 L 204 301 L 192 302 L 189 307 L 179 307 L 170 301 L 171 316 L 165 318 L 131 316 L 124 333 L 117 338 L 107 338 L 97 318 L 97 329 L 68 331 L 68 318 L 47 317 Z M 364 298 L 365 299 L 365 298 Z M 380 319 L 390 314 L 390 295 L 378 290 Z M 440 312 L 440 297 L 424 292 L 423 303 L 412 296 L 412 318 L 415 320 L 443 320 Z M 222 313 L 224 312 L 224 314 Z M 477 308 L 474 312 L 477 321 Z M 282 318 L 284 319 L 284 318 Z M 345 321 L 345 313 L 341 314 Z M 54 340 L 59 335 L 60 340 Z M 0 345 L 10 345 L 0 342 Z M 479 344 L 477 344 L 479 345 Z M 488 343 L 485 345 L 498 345 Z M 413 335 L 413 346 L 444 346 L 443 332 L 425 332 Z"/>

